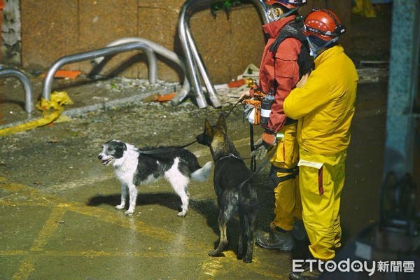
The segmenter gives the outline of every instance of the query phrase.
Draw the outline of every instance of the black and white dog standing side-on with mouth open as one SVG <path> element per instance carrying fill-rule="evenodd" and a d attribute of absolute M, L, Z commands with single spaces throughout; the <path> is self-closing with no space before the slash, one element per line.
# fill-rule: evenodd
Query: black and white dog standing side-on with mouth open
<path fill-rule="evenodd" d="M 122 141 L 111 140 L 99 153 L 102 165 L 112 164 L 117 179 L 121 183 L 121 204 L 116 209 L 124 209 L 127 195 L 130 204 L 126 215 L 132 215 L 136 207 L 137 186 L 156 181 L 162 177 L 171 183 L 175 193 L 181 197 L 182 207 L 178 216 L 186 216 L 188 211 L 190 179 L 204 181 L 210 174 L 211 162 L 200 167 L 197 158 L 185 148 L 145 148 L 140 149 Z M 160 153 L 147 151 L 162 149 Z"/>

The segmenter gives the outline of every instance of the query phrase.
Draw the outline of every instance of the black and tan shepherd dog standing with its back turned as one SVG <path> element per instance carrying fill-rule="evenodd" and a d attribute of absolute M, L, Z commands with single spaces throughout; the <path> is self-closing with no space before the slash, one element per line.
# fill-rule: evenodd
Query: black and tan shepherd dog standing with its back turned
<path fill-rule="evenodd" d="M 230 218 L 238 213 L 240 235 L 237 258 L 242 258 L 244 262 L 252 262 L 253 229 L 258 208 L 257 193 L 247 181 L 252 175 L 251 171 L 246 167 L 226 132 L 225 116 L 222 113 L 216 125 L 210 125 L 206 119 L 204 132 L 197 136 L 197 142 L 209 146 L 213 156 L 214 190 L 220 208 L 218 227 L 221 237 L 218 247 L 210 251 L 209 255 L 212 257 L 222 255 L 223 249 L 228 244 L 226 226 Z"/>

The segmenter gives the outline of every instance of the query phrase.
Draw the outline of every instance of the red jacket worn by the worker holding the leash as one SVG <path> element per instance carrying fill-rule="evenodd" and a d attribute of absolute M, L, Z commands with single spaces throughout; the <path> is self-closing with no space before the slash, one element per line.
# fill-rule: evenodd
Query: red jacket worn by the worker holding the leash
<path fill-rule="evenodd" d="M 280 43 L 275 54 L 269 51 L 280 30 L 288 23 L 294 20 L 295 15 L 289 15 L 275 22 L 269 22 L 262 25 L 269 39 L 265 45 L 260 64 L 260 90 L 267 93 L 269 90 L 275 90 L 274 104 L 269 115 L 269 122 L 266 130 L 278 132 L 286 123 L 286 115 L 283 111 L 284 99 L 291 90 L 295 88 L 300 80 L 300 71 L 298 56 L 302 49 L 302 43 L 297 38 L 286 38 Z M 309 57 L 309 51 L 305 57 Z M 251 97 L 253 90 L 251 90 Z"/>

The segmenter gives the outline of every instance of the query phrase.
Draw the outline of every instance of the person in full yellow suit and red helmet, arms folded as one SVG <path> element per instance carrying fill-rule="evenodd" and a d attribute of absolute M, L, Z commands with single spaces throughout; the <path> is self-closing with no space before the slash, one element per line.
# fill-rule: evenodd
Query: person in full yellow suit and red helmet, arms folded
<path fill-rule="evenodd" d="M 303 222 L 309 251 L 316 259 L 312 266 L 312 260 L 305 262 L 303 272 L 291 272 L 290 279 L 318 279 L 318 265 L 322 267 L 323 262 L 332 260 L 335 249 L 341 246 L 339 204 L 358 83 L 356 67 L 338 43 L 344 31 L 330 10 L 312 10 L 307 15 L 303 34 L 315 68 L 309 77 L 300 80 L 283 104 L 286 116 L 299 120 Z"/>

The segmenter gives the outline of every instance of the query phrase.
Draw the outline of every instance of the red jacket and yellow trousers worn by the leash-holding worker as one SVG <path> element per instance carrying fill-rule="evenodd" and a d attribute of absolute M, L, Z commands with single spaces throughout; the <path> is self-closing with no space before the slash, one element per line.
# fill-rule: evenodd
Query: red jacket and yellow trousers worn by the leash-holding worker
<path fill-rule="evenodd" d="M 275 55 L 270 50 L 280 32 L 286 25 L 294 22 L 296 15 L 289 15 L 281 20 L 262 26 L 269 36 L 260 64 L 260 87 L 262 92 L 275 90 L 275 101 L 271 107 L 269 121 L 265 130 L 281 134 L 277 139 L 276 153 L 270 159 L 274 188 L 274 221 L 272 228 L 293 229 L 294 218 L 302 220 L 302 205 L 298 187 L 297 167 L 299 147 L 296 141 L 296 122 L 288 123 L 283 113 L 283 101 L 295 87 L 303 73 L 313 66 L 309 50 L 297 38 L 286 38 L 276 48 Z M 281 180 L 281 181 L 280 181 Z"/>

